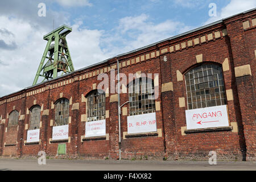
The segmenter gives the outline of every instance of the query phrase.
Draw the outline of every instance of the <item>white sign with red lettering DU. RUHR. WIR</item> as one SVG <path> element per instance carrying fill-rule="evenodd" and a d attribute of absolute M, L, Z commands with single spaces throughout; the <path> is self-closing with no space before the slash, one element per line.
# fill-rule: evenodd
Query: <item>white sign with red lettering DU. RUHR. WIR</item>
<path fill-rule="evenodd" d="M 156 131 L 155 113 L 130 115 L 127 117 L 127 133 L 144 133 Z"/>

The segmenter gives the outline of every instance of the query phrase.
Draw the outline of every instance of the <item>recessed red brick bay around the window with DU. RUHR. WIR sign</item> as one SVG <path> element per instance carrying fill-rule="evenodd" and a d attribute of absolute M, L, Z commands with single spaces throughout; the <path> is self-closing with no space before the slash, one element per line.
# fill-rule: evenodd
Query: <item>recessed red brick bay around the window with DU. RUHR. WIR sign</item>
<path fill-rule="evenodd" d="M 141 76 L 148 76 L 148 73 L 152 73 L 152 80 L 155 78 L 155 73 L 159 74 L 158 78 L 161 76 L 160 67 L 155 67 L 159 65 L 159 58 L 141 61 L 135 65 L 129 65 L 125 68 L 119 70 L 120 73 L 125 73 L 128 77 L 129 73 L 136 73 L 141 71 Z M 121 62 L 122 63 L 122 62 Z M 129 81 L 127 81 L 129 84 Z M 159 85 L 161 85 L 161 80 L 159 78 Z M 158 86 L 155 86 L 155 90 Z M 120 97 L 120 105 L 129 101 L 129 90 L 127 86 L 127 93 L 122 93 Z M 160 102 L 162 105 L 161 98 L 156 98 L 155 102 Z M 129 115 L 129 104 L 126 104 L 127 114 Z M 156 128 L 163 131 L 163 119 L 162 110 L 156 111 Z M 121 151 L 122 158 L 141 158 L 147 156 L 147 158 L 163 158 L 164 156 L 164 140 L 163 137 L 158 136 L 147 136 L 147 137 L 132 137 L 123 139 L 123 132 L 127 132 L 127 116 L 123 116 L 121 112 Z"/>

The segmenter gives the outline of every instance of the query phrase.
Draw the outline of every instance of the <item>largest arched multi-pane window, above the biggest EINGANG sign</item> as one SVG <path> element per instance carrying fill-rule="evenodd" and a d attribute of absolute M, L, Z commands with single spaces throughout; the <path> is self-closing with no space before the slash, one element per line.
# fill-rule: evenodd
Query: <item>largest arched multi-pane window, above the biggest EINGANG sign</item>
<path fill-rule="evenodd" d="M 202 64 L 185 74 L 188 109 L 226 105 L 222 68 Z"/>

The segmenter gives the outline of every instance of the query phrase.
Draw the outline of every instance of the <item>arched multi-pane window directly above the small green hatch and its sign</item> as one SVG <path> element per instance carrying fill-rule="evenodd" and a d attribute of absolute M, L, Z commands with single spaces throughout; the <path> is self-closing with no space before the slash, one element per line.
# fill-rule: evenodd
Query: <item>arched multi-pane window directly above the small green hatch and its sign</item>
<path fill-rule="evenodd" d="M 55 123 L 54 126 L 68 125 L 69 101 L 62 98 L 55 103 Z"/>

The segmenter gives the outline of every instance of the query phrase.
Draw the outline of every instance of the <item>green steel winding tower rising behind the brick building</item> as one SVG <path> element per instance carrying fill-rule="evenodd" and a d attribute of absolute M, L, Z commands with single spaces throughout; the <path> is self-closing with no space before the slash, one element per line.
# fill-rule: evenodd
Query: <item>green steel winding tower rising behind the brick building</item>
<path fill-rule="evenodd" d="M 74 71 L 66 40 L 66 35 L 71 31 L 72 28 L 64 24 L 52 32 L 49 32 L 49 34 L 44 35 L 43 39 L 48 42 L 38 72 L 36 72 L 33 85 L 38 82 L 39 76 L 44 77 L 43 81 L 45 81 L 49 80 L 49 78 L 56 78 L 58 72 L 62 72 L 61 75 L 63 75 L 63 73 Z"/>

